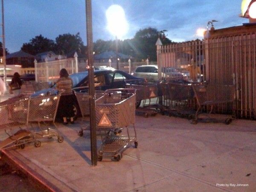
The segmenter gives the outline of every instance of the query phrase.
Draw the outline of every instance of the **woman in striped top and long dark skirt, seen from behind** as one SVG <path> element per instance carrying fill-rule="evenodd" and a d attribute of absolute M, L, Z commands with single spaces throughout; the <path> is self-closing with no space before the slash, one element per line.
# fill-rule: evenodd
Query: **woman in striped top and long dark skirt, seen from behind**
<path fill-rule="evenodd" d="M 67 118 L 70 118 L 70 123 L 74 123 L 74 110 L 73 110 L 73 81 L 69 77 L 69 74 L 67 73 L 66 69 L 60 70 L 60 78 L 56 82 L 56 88 L 58 91 L 64 90 L 63 93 L 61 93 L 61 98 L 58 105 L 58 114 L 60 114 L 60 117 L 63 119 L 63 124 L 67 125 Z"/>

